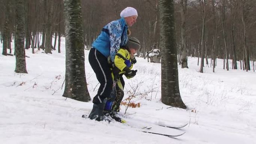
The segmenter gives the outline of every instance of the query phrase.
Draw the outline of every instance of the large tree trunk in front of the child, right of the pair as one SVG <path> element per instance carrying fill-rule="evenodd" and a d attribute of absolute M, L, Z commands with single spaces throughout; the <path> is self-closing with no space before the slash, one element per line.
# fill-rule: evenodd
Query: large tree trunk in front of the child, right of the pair
<path fill-rule="evenodd" d="M 180 96 L 177 49 L 174 31 L 174 1 L 159 0 L 160 45 L 162 46 L 161 88 L 162 102 L 179 108 L 186 108 Z"/>

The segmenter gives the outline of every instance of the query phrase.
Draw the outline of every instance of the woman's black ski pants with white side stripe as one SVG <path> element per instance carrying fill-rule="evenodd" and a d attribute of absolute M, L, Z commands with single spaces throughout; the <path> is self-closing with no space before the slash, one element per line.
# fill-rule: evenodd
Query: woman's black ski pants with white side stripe
<path fill-rule="evenodd" d="M 102 100 L 108 98 L 112 91 L 113 80 L 107 58 L 98 50 L 92 48 L 89 52 L 89 63 L 100 82 L 100 88 L 96 96 L 100 96 Z"/>

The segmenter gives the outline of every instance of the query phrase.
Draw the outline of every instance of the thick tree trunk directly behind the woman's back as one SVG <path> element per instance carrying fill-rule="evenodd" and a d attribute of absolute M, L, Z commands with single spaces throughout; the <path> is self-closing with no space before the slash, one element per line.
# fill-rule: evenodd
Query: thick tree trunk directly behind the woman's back
<path fill-rule="evenodd" d="M 66 71 L 64 97 L 87 102 L 91 98 L 85 76 L 81 0 L 64 0 Z"/>

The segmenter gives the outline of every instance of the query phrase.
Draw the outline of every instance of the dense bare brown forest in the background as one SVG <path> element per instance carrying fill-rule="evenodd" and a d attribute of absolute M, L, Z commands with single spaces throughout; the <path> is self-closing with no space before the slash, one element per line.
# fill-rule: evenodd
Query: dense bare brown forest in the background
<path fill-rule="evenodd" d="M 63 0 L 25 1 L 25 49 L 34 52 L 60 49 L 60 37 L 65 37 Z M 11 53 L 10 42 L 15 37 L 15 0 L 0 0 L 0 39 L 3 55 Z M 137 23 L 129 28 L 131 36 L 141 42 L 139 56 L 159 49 L 160 19 L 158 0 L 82 0 L 83 37 L 86 49 L 108 22 L 120 18 L 127 6 L 138 11 Z M 256 61 L 256 1 L 255 0 L 174 0 L 176 48 L 178 62 L 187 65 L 188 56 L 198 57 L 198 65 L 211 67 L 216 58 L 223 59 L 223 68 L 254 70 Z M 52 42 L 52 38 L 55 42 Z M 54 45 L 51 45 L 53 43 Z M 199 58 L 201 58 L 199 63 Z M 209 60 L 210 59 L 210 60 Z M 204 65 L 206 61 L 206 65 Z M 237 63 L 240 62 L 240 67 Z M 213 67 L 214 72 L 214 67 Z"/>

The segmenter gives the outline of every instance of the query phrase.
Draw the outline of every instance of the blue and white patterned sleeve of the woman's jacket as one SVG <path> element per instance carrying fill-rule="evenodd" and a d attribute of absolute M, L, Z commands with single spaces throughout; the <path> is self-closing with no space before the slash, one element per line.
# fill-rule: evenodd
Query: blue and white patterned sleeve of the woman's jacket
<path fill-rule="evenodd" d="M 122 36 L 121 24 L 117 21 L 111 22 L 109 25 L 109 40 L 110 40 L 110 58 L 114 62 L 116 52 L 120 49 Z"/>

